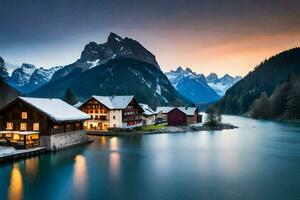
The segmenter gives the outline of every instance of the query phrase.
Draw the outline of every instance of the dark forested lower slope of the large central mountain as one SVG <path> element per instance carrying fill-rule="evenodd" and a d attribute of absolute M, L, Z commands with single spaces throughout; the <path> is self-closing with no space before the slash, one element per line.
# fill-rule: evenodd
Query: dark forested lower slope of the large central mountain
<path fill-rule="evenodd" d="M 83 72 L 75 69 L 31 95 L 62 98 L 68 88 L 81 101 L 91 95 L 135 95 L 138 101 L 154 107 L 186 102 L 157 66 L 132 58 L 111 59 Z"/>

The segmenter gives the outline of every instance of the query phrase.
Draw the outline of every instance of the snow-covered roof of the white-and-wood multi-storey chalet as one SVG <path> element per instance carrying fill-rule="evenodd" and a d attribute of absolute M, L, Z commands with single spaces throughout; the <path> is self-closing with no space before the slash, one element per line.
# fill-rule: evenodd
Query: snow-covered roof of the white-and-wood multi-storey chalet
<path fill-rule="evenodd" d="M 125 109 L 134 96 L 92 96 L 109 109 Z"/>

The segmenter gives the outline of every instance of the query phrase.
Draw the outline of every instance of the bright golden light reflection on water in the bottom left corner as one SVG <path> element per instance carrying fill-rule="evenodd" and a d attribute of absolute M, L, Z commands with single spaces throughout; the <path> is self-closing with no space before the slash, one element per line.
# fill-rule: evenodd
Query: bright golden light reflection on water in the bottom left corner
<path fill-rule="evenodd" d="M 23 178 L 19 164 L 14 164 L 10 175 L 8 199 L 19 200 L 23 198 Z"/>

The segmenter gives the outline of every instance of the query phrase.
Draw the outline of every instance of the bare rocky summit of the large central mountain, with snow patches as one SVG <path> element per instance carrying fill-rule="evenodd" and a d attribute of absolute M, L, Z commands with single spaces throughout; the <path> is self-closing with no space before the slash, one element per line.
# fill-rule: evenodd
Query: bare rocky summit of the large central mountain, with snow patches
<path fill-rule="evenodd" d="M 103 44 L 90 42 L 81 53 L 80 59 L 75 63 L 65 66 L 56 72 L 54 80 L 67 76 L 75 69 L 89 70 L 99 64 L 104 64 L 111 59 L 133 58 L 160 68 L 155 56 L 143 47 L 139 42 L 130 38 L 122 38 L 115 33 L 110 33 Z"/>

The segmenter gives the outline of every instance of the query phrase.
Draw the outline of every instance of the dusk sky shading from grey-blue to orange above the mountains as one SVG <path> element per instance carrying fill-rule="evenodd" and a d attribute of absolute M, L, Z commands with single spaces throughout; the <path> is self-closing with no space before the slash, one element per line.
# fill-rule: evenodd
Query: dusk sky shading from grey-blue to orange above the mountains
<path fill-rule="evenodd" d="M 296 0 L 0 0 L 0 56 L 67 65 L 115 32 L 138 40 L 163 71 L 246 75 L 299 46 L 299 10 Z"/>

